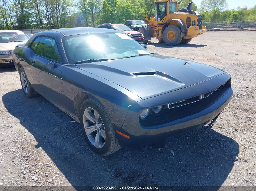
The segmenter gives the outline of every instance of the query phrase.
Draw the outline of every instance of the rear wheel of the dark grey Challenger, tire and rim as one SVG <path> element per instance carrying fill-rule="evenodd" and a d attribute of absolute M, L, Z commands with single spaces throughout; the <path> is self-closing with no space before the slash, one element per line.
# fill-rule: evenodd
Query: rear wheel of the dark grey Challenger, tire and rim
<path fill-rule="evenodd" d="M 34 90 L 32 85 L 28 81 L 28 77 L 27 77 L 23 67 L 20 68 L 19 73 L 20 73 L 21 87 L 22 87 L 22 90 L 23 90 L 25 96 L 27 96 L 27 97 L 35 97 L 35 96 L 37 96 L 38 93 Z M 25 85 L 22 85 L 22 83 L 23 84 L 25 83 Z"/>

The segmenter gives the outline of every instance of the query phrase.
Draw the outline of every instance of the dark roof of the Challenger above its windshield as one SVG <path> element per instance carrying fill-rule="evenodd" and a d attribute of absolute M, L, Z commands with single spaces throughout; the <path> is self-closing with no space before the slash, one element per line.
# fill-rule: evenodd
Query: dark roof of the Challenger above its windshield
<path fill-rule="evenodd" d="M 39 32 L 40 35 L 44 35 L 47 33 L 62 33 L 64 36 L 77 35 L 77 34 L 90 34 L 90 33 L 122 33 L 121 31 L 113 30 L 113 29 L 104 29 L 104 28 L 87 28 L 87 27 L 79 27 L 79 28 L 61 28 L 61 29 L 51 29 Z"/>

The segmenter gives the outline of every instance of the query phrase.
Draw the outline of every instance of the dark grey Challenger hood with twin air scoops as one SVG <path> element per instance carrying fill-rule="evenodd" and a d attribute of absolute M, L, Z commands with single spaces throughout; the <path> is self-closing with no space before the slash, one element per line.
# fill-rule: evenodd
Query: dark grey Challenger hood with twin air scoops
<path fill-rule="evenodd" d="M 209 65 L 158 54 L 77 64 L 77 67 L 118 84 L 141 99 L 185 88 L 224 73 Z"/>

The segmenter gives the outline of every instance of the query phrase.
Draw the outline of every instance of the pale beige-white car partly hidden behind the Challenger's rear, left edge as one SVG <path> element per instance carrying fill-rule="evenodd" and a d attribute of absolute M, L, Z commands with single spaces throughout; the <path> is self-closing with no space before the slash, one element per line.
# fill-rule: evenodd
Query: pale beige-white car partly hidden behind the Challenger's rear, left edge
<path fill-rule="evenodd" d="M 24 44 L 29 37 L 20 30 L 0 30 L 0 68 L 2 64 L 13 64 L 12 51 L 18 44 Z"/>

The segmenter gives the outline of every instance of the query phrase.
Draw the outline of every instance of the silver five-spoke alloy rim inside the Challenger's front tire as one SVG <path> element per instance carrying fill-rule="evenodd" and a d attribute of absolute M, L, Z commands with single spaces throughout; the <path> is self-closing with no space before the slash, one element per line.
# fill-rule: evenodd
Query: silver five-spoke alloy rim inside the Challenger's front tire
<path fill-rule="evenodd" d="M 102 148 L 106 141 L 106 131 L 99 113 L 88 107 L 83 115 L 85 133 L 93 146 Z"/>

